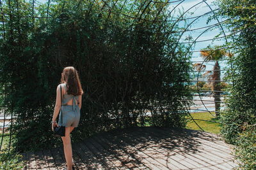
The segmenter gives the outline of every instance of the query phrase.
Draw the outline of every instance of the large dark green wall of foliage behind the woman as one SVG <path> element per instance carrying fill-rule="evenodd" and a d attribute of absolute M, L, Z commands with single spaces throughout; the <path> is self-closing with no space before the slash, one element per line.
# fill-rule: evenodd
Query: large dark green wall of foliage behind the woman
<path fill-rule="evenodd" d="M 12 15 L 2 15 L 0 25 L 0 80 L 8 93 L 8 112 L 17 117 L 10 128 L 18 150 L 61 142 L 52 137 L 50 122 L 65 66 L 77 68 L 84 89 L 75 141 L 145 125 L 147 111 L 153 114 L 150 125 L 186 125 L 182 109 L 191 96 L 185 83 L 190 66 L 184 61 L 190 54 L 177 44 L 178 33 L 166 33 L 182 28 L 157 22 L 168 15 L 167 4 L 138 10 L 141 1 L 106 1 L 110 11 L 102 1 L 50 2 L 49 8 L 46 3 L 31 11 L 26 1 L 3 1 L 3 11 Z M 39 18 L 24 17 L 32 15 Z"/>

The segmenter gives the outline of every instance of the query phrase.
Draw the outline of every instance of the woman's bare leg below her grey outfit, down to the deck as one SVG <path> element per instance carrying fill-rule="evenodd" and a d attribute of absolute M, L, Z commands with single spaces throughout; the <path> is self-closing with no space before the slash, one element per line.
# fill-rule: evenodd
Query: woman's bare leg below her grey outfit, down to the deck
<path fill-rule="evenodd" d="M 65 127 L 65 136 L 61 137 L 63 141 L 63 148 L 65 153 L 65 159 L 67 162 L 67 170 L 72 169 L 72 146 L 70 139 L 70 127 Z"/>

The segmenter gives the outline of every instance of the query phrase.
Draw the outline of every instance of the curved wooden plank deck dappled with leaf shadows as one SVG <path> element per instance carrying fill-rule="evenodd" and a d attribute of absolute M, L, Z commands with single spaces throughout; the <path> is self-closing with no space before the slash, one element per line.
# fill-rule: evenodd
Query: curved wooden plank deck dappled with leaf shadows
<path fill-rule="evenodd" d="M 63 169 L 60 148 L 24 154 L 26 169 Z M 72 143 L 76 169 L 233 169 L 232 145 L 188 129 L 134 127 Z"/>

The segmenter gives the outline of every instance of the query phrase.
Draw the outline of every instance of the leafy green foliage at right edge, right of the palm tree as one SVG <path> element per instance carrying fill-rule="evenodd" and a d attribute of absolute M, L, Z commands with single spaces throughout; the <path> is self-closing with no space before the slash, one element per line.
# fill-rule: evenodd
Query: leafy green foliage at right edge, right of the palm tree
<path fill-rule="evenodd" d="M 232 69 L 227 80 L 231 96 L 227 99 L 227 109 L 221 115 L 221 134 L 228 143 L 237 145 L 237 157 L 245 169 L 255 168 L 255 128 L 244 131 L 244 124 L 256 124 L 256 1 L 219 0 L 218 15 L 227 17 L 227 29 L 239 34 L 232 36 L 230 43 L 234 56 L 230 59 Z M 251 146 L 250 146 L 251 145 Z"/>

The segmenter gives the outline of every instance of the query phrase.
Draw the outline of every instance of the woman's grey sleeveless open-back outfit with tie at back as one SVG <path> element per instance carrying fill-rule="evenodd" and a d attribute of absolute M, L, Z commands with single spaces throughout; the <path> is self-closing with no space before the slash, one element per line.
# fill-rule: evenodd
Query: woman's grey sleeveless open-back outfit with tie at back
<path fill-rule="evenodd" d="M 65 87 L 67 92 L 66 84 L 61 84 L 61 88 Z M 73 100 L 72 105 L 67 105 L 68 101 Z M 77 127 L 80 120 L 80 108 L 76 104 L 78 101 L 78 96 L 74 96 L 72 94 L 63 94 L 62 96 L 62 103 L 59 116 L 58 125 L 63 125 L 65 127 Z M 62 122 L 61 122 L 61 115 L 62 115 Z"/>

